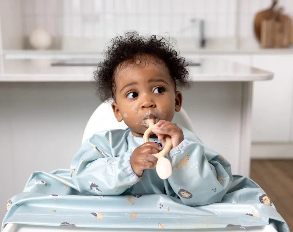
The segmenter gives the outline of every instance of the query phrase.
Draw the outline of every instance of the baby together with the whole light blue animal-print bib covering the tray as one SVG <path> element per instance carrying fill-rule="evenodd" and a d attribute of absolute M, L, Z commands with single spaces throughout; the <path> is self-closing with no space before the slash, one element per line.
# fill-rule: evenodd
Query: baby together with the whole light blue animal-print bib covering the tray
<path fill-rule="evenodd" d="M 171 123 L 181 108 L 178 89 L 187 83 L 188 63 L 168 40 L 130 32 L 113 39 L 106 55 L 94 72 L 97 93 L 102 101 L 113 99 L 115 117 L 128 128 L 88 138 L 74 156 L 71 171 L 34 172 L 23 192 L 7 201 L 2 228 L 15 221 L 188 231 L 272 223 L 279 232 L 289 232 L 263 189 L 249 178 L 232 177 L 222 155 Z M 150 119 L 156 124 L 150 141 L 144 143 Z M 160 179 L 153 154 L 162 150 L 167 136 L 172 149 L 166 158 L 173 173 Z M 215 202 L 220 204 L 211 204 Z"/>

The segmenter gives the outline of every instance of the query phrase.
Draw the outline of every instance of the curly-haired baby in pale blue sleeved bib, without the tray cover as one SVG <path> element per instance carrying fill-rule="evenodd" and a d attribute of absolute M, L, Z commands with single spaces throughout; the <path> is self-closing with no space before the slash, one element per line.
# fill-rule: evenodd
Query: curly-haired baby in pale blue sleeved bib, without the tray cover
<path fill-rule="evenodd" d="M 188 81 L 188 62 L 166 38 L 128 32 L 112 40 L 94 79 L 101 101 L 126 130 L 101 131 L 85 141 L 71 162 L 71 179 L 86 195 L 167 194 L 189 206 L 220 202 L 232 182 L 230 164 L 191 131 L 171 123 L 180 111 L 180 87 Z M 156 123 L 143 143 L 147 119 Z M 103 122 L 101 122 L 103 123 Z M 158 153 L 170 136 L 173 174 L 158 177 Z"/>

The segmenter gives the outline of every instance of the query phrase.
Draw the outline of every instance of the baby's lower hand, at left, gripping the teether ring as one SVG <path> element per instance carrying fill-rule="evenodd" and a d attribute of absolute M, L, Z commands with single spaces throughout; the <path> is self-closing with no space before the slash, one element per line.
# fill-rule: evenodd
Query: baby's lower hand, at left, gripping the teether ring
<path fill-rule="evenodd" d="M 145 169 L 152 169 L 156 167 L 157 158 L 152 154 L 158 153 L 162 150 L 158 143 L 147 142 L 134 149 L 130 157 L 130 164 L 134 173 L 141 177 Z"/>

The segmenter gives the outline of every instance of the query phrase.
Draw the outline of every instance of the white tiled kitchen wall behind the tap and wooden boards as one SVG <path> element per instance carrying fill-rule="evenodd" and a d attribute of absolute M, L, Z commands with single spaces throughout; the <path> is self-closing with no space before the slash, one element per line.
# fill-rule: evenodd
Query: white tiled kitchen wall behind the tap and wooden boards
<path fill-rule="evenodd" d="M 280 0 L 275 10 L 282 6 L 290 16 L 292 4 Z M 43 29 L 52 38 L 49 49 L 100 52 L 117 34 L 135 29 L 176 37 L 181 50 L 198 49 L 195 39 L 202 31 L 209 49 L 259 48 L 253 19 L 271 5 L 271 0 L 2 0 L 2 43 L 7 50 L 31 49 L 28 38 Z"/>

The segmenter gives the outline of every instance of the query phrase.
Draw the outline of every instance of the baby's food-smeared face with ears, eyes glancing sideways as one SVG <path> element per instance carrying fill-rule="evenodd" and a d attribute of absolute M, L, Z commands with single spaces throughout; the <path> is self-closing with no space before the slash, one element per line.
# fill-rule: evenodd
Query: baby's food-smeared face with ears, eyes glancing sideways
<path fill-rule="evenodd" d="M 154 59 L 151 58 L 150 59 Z M 137 60 L 115 75 L 115 102 L 112 108 L 118 121 L 124 121 L 134 136 L 142 137 L 148 125 L 164 119 L 171 121 L 175 111 L 180 111 L 181 92 L 175 92 L 173 78 L 163 64 Z"/>

